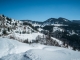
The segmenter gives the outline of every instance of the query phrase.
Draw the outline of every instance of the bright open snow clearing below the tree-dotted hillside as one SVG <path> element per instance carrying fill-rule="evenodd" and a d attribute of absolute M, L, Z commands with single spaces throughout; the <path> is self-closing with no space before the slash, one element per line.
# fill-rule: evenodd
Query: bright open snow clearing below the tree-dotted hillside
<path fill-rule="evenodd" d="M 18 33 L 14 33 L 11 36 L 15 37 L 15 39 L 17 39 L 17 40 L 24 41 L 24 40 L 28 39 L 29 42 L 32 42 L 32 40 L 36 40 L 36 37 L 38 35 L 41 36 L 41 37 L 43 36 L 43 34 L 39 33 L 39 32 L 38 33 L 30 33 L 30 34 L 18 34 Z"/>

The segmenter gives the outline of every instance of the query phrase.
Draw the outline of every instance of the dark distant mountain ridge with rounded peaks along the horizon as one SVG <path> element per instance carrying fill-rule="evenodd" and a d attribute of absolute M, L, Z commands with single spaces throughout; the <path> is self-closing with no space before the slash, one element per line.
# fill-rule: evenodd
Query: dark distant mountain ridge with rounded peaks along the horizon
<path fill-rule="evenodd" d="M 62 17 L 59 17 L 59 18 L 49 18 L 43 22 L 40 22 L 40 21 L 32 21 L 32 20 L 21 20 L 23 22 L 30 22 L 30 23 L 37 23 L 37 24 L 71 24 L 72 22 L 76 21 L 77 20 L 68 20 L 66 18 L 62 18 Z M 79 20 L 78 20 L 79 21 Z M 75 22 L 74 22 L 75 23 Z"/>

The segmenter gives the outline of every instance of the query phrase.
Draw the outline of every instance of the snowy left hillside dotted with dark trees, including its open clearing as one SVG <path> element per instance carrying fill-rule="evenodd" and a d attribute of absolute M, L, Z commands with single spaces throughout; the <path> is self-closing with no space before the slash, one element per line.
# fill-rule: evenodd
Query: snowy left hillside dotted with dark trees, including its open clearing
<path fill-rule="evenodd" d="M 5 34 L 3 33 L 4 31 L 6 31 Z M 0 36 L 21 42 L 28 39 L 31 42 L 32 40 L 36 40 L 38 35 L 42 36 L 43 34 L 36 31 L 28 22 L 27 25 L 24 25 L 22 21 L 0 15 Z"/>

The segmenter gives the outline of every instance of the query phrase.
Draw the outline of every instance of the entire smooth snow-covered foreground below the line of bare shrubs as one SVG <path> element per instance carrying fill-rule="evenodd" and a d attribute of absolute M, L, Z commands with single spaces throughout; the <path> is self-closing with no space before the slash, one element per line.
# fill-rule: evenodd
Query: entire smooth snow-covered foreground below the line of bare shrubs
<path fill-rule="evenodd" d="M 80 52 L 0 37 L 0 60 L 80 60 Z"/>

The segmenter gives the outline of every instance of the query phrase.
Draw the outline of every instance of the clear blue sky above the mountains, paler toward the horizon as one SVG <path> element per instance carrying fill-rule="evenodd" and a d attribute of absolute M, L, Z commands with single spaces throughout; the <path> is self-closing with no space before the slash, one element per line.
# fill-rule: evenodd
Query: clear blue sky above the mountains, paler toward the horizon
<path fill-rule="evenodd" d="M 80 20 L 80 0 L 0 0 L 0 14 L 16 20 Z"/>

